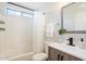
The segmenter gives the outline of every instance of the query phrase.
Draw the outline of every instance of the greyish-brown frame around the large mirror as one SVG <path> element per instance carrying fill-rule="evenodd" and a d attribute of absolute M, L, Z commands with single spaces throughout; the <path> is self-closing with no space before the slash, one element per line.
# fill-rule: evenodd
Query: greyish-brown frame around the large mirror
<path fill-rule="evenodd" d="M 63 27 L 63 10 L 74 3 L 76 3 L 76 2 L 72 2 L 72 3 L 61 8 L 61 28 L 64 28 Z M 66 34 L 86 34 L 86 30 L 66 30 Z"/>

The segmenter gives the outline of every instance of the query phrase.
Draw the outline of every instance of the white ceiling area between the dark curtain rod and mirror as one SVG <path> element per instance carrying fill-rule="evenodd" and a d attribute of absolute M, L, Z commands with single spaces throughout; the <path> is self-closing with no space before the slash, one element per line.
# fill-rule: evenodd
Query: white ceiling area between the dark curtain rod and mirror
<path fill-rule="evenodd" d="M 16 4 L 41 11 L 41 12 L 49 12 L 53 10 L 60 2 L 15 2 Z"/>

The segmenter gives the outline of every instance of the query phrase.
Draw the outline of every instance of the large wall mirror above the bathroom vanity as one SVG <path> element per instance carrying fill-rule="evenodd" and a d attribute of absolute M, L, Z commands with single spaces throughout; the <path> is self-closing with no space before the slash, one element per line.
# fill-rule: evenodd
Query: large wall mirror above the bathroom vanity
<path fill-rule="evenodd" d="M 70 33 L 86 33 L 86 2 L 73 2 L 62 8 L 62 28 Z"/>

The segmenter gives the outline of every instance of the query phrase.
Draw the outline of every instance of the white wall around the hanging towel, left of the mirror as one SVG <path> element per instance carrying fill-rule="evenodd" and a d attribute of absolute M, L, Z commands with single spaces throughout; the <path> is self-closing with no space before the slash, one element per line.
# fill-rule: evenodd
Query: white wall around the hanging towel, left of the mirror
<path fill-rule="evenodd" d="M 46 26 L 49 23 L 53 23 L 54 24 L 54 37 L 53 38 L 45 38 L 45 40 L 47 41 L 58 41 L 59 35 L 58 35 L 58 30 L 61 28 L 61 4 L 56 4 L 53 5 L 52 9 L 50 9 L 47 13 L 46 13 Z"/>

